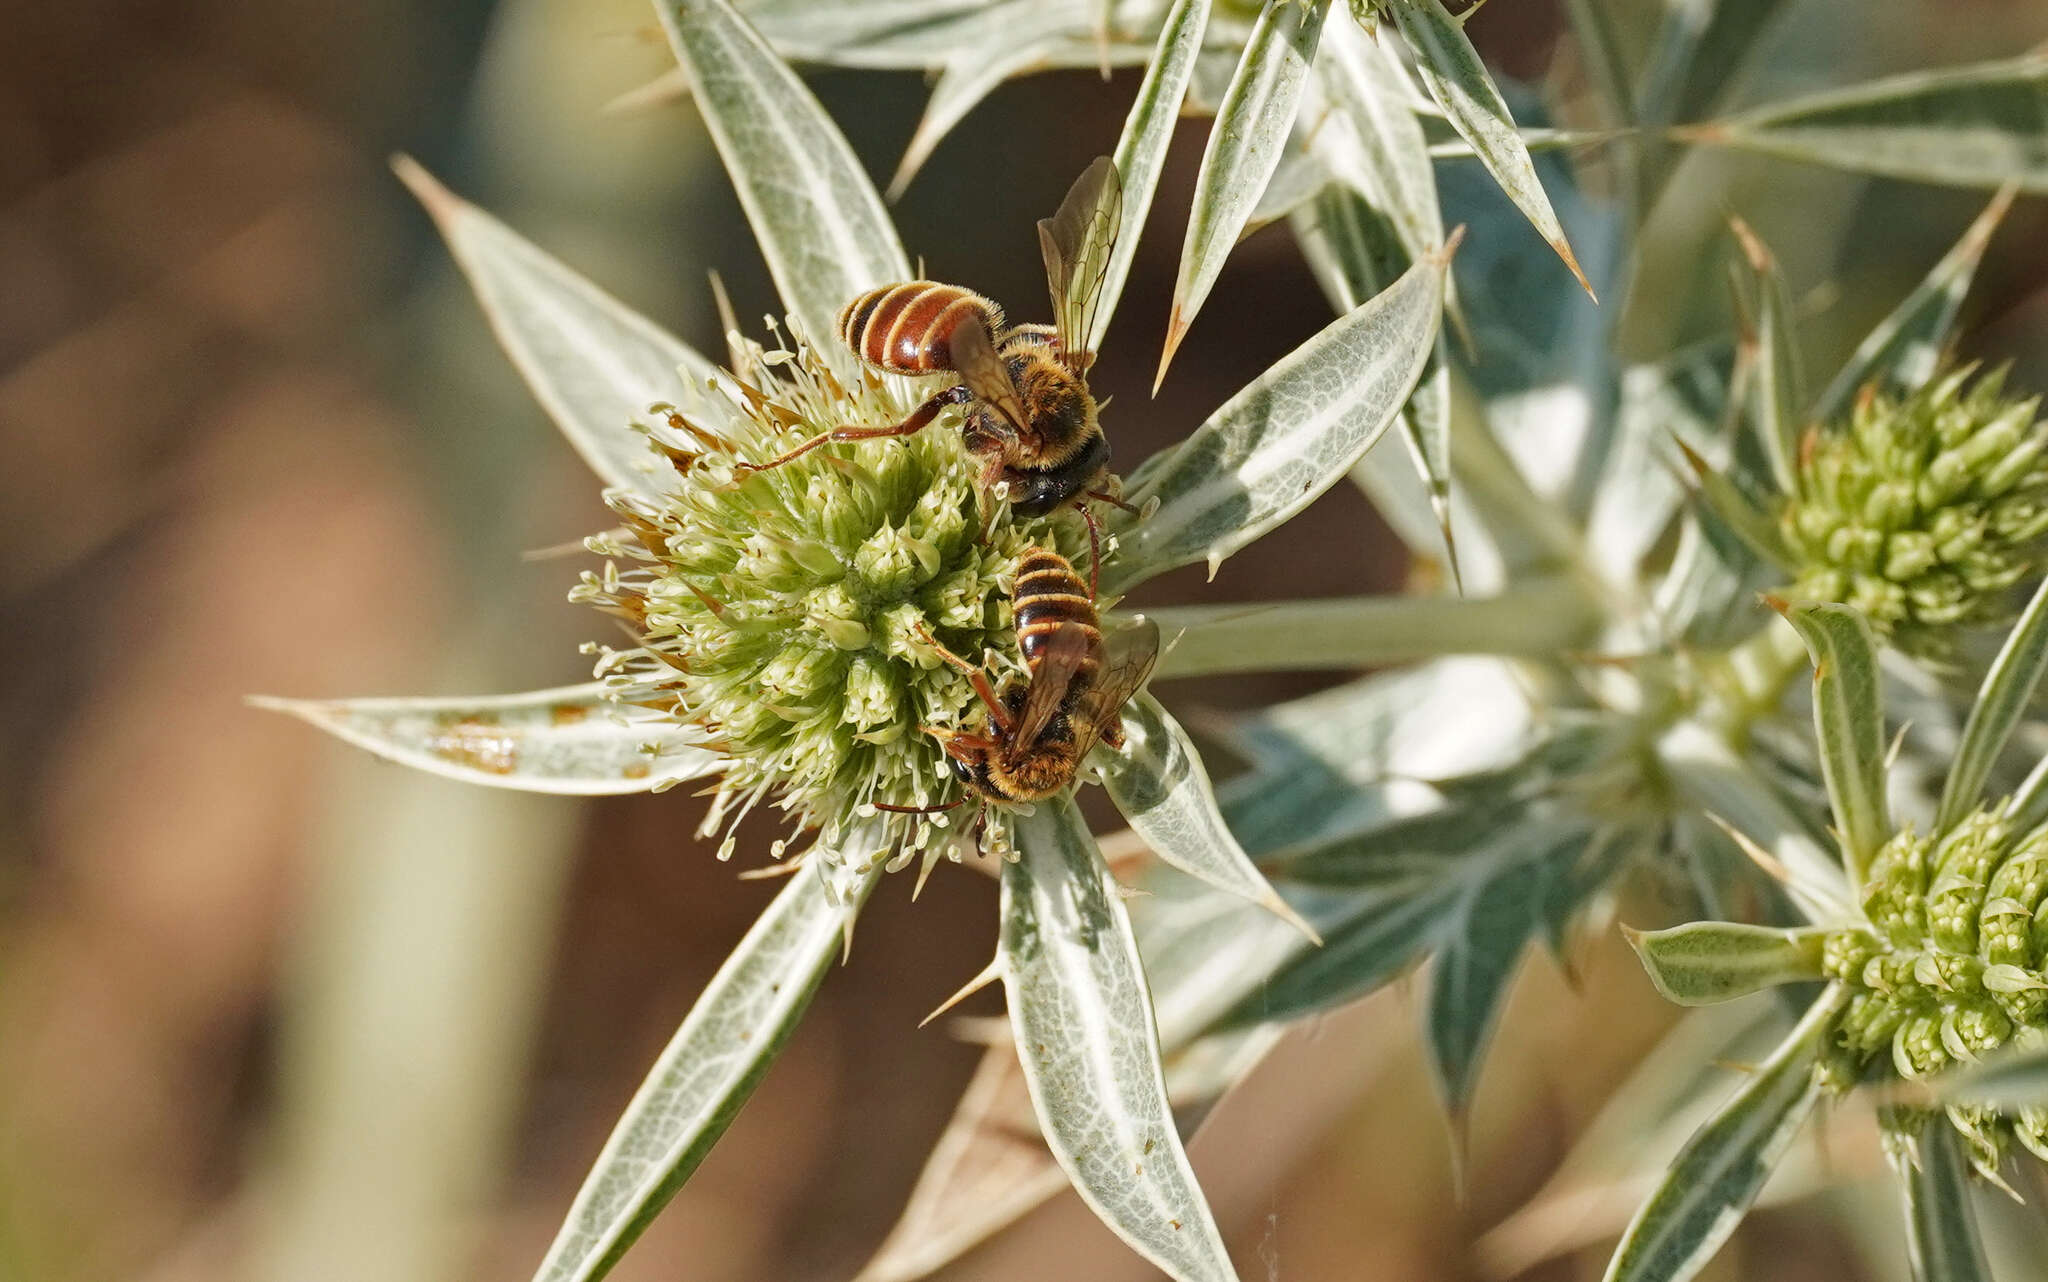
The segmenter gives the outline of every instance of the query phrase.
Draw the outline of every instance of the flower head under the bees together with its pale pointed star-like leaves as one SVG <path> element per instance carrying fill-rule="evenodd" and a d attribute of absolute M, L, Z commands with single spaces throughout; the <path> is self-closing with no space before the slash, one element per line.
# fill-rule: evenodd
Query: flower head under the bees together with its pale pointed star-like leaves
<path fill-rule="evenodd" d="M 922 727 L 975 707 L 940 645 L 1020 666 L 1010 575 L 1028 547 L 1085 559 L 1079 518 L 1020 518 L 977 487 L 942 422 L 764 463 L 848 422 L 901 420 L 920 389 L 862 373 L 834 315 L 911 276 L 840 131 L 723 0 L 657 4 L 788 309 L 727 369 L 463 203 L 403 176 L 446 233 L 492 326 L 586 461 L 618 528 L 573 596 L 629 629 L 592 647 L 586 686 L 473 700 L 283 702 L 381 756 L 553 793 L 707 780 L 705 836 L 750 813 L 788 831 L 788 881 L 627 1106 L 539 1270 L 600 1278 L 682 1186 L 850 944 L 885 870 L 928 872 L 969 823 L 909 813 L 952 788 Z M 1133 514 L 1104 545 L 1114 598 L 1186 563 L 1214 569 L 1341 481 L 1393 424 L 1442 313 L 1450 246 L 1337 317 L 1186 440 L 1126 475 Z M 1102 315 L 1106 324 L 1108 307 Z M 1186 629 L 1194 633 L 1196 629 Z M 1128 709 L 1110 797 L 1161 860 L 1303 930 L 1249 862 L 1188 733 L 1149 696 Z M 971 813 L 971 811 L 961 811 Z M 991 815 L 1001 866 L 995 963 L 1038 1124 L 1073 1186 L 1174 1278 L 1235 1276 L 1182 1149 L 1128 913 L 1067 795 Z M 1313 934 L 1313 932 L 1309 932 Z"/>

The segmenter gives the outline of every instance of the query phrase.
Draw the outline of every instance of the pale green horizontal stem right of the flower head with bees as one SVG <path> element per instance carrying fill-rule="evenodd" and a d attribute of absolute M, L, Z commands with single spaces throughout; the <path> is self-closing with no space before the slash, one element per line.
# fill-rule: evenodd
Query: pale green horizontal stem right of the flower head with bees
<path fill-rule="evenodd" d="M 1350 596 L 1151 610 L 1167 639 L 1159 676 L 1376 668 L 1452 653 L 1556 655 L 1599 616 L 1565 575 L 1499 596 Z"/>

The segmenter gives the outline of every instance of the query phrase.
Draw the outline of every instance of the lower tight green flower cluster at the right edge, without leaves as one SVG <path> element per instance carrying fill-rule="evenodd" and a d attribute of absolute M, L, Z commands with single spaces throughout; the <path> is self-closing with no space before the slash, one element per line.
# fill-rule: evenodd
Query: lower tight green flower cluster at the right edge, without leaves
<path fill-rule="evenodd" d="M 1829 979 L 1851 991 L 1835 1026 L 1835 1085 L 1872 1071 L 1919 1079 L 2048 1038 L 2048 825 L 2015 834 L 1997 803 L 1939 840 L 1903 829 L 1872 862 L 1864 913 L 1872 930 L 1823 944 Z M 2048 1159 L 2048 1110 L 1948 1116 L 1987 1176 L 2011 1139 Z"/>

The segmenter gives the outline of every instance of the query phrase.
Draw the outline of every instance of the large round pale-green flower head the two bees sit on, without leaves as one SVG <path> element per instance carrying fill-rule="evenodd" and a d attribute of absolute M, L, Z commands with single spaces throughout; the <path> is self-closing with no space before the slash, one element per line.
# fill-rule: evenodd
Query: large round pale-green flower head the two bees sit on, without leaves
<path fill-rule="evenodd" d="M 623 616 L 637 639 L 594 647 L 606 694 L 702 727 L 727 756 L 707 831 L 768 801 L 829 844 L 872 803 L 940 799 L 944 754 L 920 727 L 977 711 L 934 641 L 1014 664 L 1018 555 L 1073 557 L 1079 537 L 1071 514 L 1024 520 L 981 494 L 950 418 L 737 467 L 918 403 L 903 379 L 842 379 L 809 344 L 791 346 L 735 336 L 737 373 L 653 408 L 641 426 L 664 459 L 659 498 L 606 496 L 623 528 L 590 541 L 608 561 L 571 598 Z M 932 840 L 922 819 L 889 823 L 895 866 Z"/>

